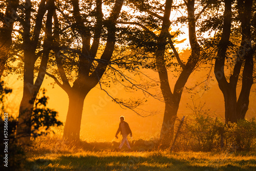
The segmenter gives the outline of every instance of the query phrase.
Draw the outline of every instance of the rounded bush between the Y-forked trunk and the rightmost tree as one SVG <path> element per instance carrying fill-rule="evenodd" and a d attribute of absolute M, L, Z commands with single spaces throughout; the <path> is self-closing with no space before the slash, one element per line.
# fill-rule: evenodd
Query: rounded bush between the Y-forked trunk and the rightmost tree
<path fill-rule="evenodd" d="M 175 149 L 193 151 L 211 151 L 220 148 L 222 142 L 219 118 L 212 118 L 207 113 L 188 117 L 182 126 Z"/>

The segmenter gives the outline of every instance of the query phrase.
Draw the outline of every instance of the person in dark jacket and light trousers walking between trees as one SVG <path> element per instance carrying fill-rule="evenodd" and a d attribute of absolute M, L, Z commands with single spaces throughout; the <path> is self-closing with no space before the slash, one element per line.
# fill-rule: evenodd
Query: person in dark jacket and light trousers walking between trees
<path fill-rule="evenodd" d="M 129 127 L 129 124 L 124 121 L 124 117 L 123 116 L 120 116 L 119 119 L 120 119 L 120 123 L 119 123 L 118 130 L 116 132 L 116 138 L 118 138 L 117 135 L 118 135 L 119 132 L 121 132 L 121 135 L 123 137 L 123 139 L 121 141 L 121 144 L 119 145 L 119 149 L 122 148 L 124 143 L 125 143 L 125 145 L 129 149 L 131 149 L 130 144 L 129 144 L 128 140 L 127 140 L 127 136 L 130 134 L 130 136 L 132 137 L 133 136 L 132 131 L 131 131 L 130 127 Z"/>

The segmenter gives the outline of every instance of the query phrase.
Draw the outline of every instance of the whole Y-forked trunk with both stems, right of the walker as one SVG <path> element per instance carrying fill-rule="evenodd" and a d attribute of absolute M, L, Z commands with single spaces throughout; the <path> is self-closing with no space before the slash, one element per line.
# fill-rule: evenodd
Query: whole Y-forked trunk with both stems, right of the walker
<path fill-rule="evenodd" d="M 190 46 L 192 49 L 191 56 L 189 57 L 186 65 L 182 65 L 182 72 L 178 80 L 175 83 L 174 92 L 170 90 L 169 82 L 168 82 L 168 73 L 165 68 L 165 61 L 164 61 L 164 53 L 165 53 L 165 42 L 168 35 L 168 29 L 170 27 L 169 16 L 170 16 L 170 9 L 172 8 L 171 0 L 166 1 L 165 6 L 165 13 L 163 17 L 163 24 L 161 33 L 158 39 L 158 50 L 156 52 L 156 63 L 157 69 L 161 84 L 161 91 L 163 94 L 163 98 L 165 101 L 165 111 L 164 111 L 164 119 L 160 134 L 160 143 L 164 147 L 168 147 L 170 143 L 172 143 L 173 136 L 174 136 L 174 125 L 175 120 L 177 117 L 179 103 L 181 99 L 181 95 L 183 92 L 183 88 L 187 82 L 188 77 L 195 69 L 198 61 L 200 60 L 200 46 L 197 42 L 196 37 L 196 26 L 195 26 L 195 15 L 194 15 L 194 1 L 189 1 L 188 4 L 188 31 L 189 31 L 189 41 Z"/>

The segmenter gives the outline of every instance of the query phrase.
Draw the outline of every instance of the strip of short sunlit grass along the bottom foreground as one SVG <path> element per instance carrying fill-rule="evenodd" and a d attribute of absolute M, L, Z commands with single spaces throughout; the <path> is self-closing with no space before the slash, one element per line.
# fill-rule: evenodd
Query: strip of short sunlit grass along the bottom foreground
<path fill-rule="evenodd" d="M 35 170 L 256 170 L 254 155 L 226 153 L 83 152 L 31 155 Z"/>

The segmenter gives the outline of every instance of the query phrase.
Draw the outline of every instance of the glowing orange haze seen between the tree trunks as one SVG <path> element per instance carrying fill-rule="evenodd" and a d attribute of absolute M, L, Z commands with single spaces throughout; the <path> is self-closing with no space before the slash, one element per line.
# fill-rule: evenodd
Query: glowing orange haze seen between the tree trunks
<path fill-rule="evenodd" d="M 148 75 L 157 76 L 157 73 L 151 70 L 147 71 Z M 187 82 L 187 87 L 195 85 L 196 81 L 202 81 L 206 72 L 195 72 L 191 75 Z M 16 76 L 8 76 L 6 79 L 8 86 L 13 89 L 13 93 L 8 97 L 8 112 L 14 116 L 18 115 L 18 106 L 22 98 L 22 81 L 17 80 Z M 172 79 L 170 79 L 172 80 Z M 54 88 L 50 85 L 53 80 L 51 78 L 45 79 L 42 88 L 47 90 L 46 95 L 49 96 L 48 108 L 54 109 L 59 113 L 58 119 L 62 122 L 66 121 L 68 110 L 68 95 L 60 89 L 56 84 Z M 221 117 L 224 120 L 224 98 L 218 88 L 218 82 L 210 81 L 210 89 L 208 91 L 201 90 L 198 86 L 194 91 L 185 92 L 182 95 L 178 117 L 193 115 L 193 111 L 187 108 L 187 103 L 193 105 L 191 95 L 194 95 L 196 104 L 205 102 L 205 110 L 210 110 L 212 117 Z M 159 88 L 158 88 L 159 89 Z M 255 86 L 252 87 L 252 90 Z M 110 88 L 112 93 L 117 98 L 144 98 L 142 93 L 128 93 L 124 91 L 123 86 L 112 85 Z M 196 93 L 196 94 L 194 94 Z M 141 106 L 146 111 L 157 111 L 154 116 L 141 117 L 129 109 L 122 109 L 120 105 L 114 103 L 105 92 L 100 90 L 99 86 L 94 88 L 84 101 L 83 114 L 81 121 L 81 139 L 86 141 L 112 141 L 116 133 L 119 116 L 123 115 L 126 121 L 131 125 L 133 136 L 135 139 L 149 139 L 159 137 L 162 120 L 164 103 L 152 97 L 146 98 L 147 102 Z M 255 93 L 251 93 L 249 109 L 246 118 L 255 117 L 256 111 Z"/>

